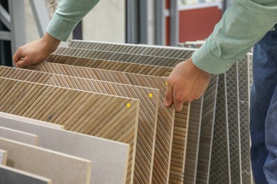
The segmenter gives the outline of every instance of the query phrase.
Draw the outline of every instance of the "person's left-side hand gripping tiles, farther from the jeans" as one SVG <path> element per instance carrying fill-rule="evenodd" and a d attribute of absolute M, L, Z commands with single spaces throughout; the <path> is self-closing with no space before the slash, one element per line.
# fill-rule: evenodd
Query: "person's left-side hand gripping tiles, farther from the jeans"
<path fill-rule="evenodd" d="M 49 54 L 56 50 L 59 44 L 60 40 L 45 33 L 43 38 L 19 47 L 13 55 L 13 62 L 18 68 L 43 62 Z"/>

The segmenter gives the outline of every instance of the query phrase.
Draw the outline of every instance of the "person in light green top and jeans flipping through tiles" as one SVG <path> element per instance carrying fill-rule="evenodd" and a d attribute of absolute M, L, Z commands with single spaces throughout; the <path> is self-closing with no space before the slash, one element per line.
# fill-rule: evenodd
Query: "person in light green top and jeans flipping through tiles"
<path fill-rule="evenodd" d="M 78 21 L 98 0 L 62 0 L 47 33 L 14 54 L 16 67 L 43 61 L 60 40 L 67 40 Z M 165 105 L 181 110 L 200 98 L 210 74 L 221 74 L 254 47 L 251 91 L 251 163 L 255 183 L 277 183 L 277 23 L 276 0 L 234 0 L 212 35 L 192 58 L 178 64 L 168 77 Z M 277 26 L 276 26 L 277 28 Z"/>

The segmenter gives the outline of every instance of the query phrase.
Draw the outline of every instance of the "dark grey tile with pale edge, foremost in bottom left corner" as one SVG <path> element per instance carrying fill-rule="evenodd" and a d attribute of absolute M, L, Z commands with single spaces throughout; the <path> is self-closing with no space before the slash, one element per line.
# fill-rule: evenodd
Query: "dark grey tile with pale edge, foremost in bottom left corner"
<path fill-rule="evenodd" d="M 27 173 L 8 166 L 0 166 L 0 183 L 5 184 L 51 184 L 49 178 Z"/>

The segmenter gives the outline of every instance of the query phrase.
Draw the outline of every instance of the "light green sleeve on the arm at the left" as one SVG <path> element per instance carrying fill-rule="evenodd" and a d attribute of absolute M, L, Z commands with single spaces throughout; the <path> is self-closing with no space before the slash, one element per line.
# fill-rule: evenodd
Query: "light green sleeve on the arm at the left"
<path fill-rule="evenodd" d="M 98 3 L 99 0 L 60 0 L 57 11 L 46 31 L 54 38 L 66 41 L 77 23 Z"/>

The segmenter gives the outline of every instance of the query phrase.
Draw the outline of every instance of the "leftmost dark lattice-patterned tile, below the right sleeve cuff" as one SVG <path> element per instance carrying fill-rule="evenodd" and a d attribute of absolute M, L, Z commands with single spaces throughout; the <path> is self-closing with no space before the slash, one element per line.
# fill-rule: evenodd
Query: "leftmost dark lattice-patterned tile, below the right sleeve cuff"
<path fill-rule="evenodd" d="M 205 169 L 204 173 L 197 176 L 197 182 L 199 183 L 230 183 L 231 180 L 225 75 L 226 74 L 220 74 L 218 79 L 210 170 Z"/>

